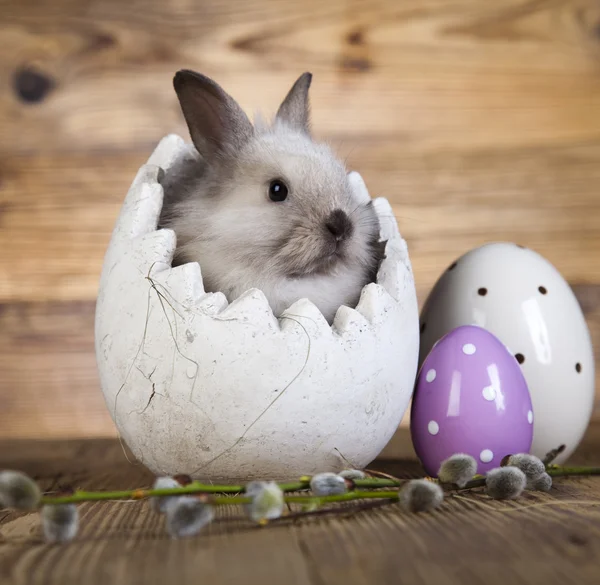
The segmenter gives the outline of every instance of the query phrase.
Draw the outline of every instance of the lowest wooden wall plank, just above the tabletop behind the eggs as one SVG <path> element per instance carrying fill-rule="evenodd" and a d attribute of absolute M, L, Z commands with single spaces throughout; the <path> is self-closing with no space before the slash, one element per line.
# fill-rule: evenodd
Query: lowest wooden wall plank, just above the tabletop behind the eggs
<path fill-rule="evenodd" d="M 576 285 L 600 347 L 600 286 Z M 426 290 L 420 288 L 422 305 Z M 0 305 L 0 438 L 115 436 L 99 387 L 94 302 Z M 600 417 L 600 360 L 596 353 Z M 403 421 L 408 425 L 409 412 Z"/>

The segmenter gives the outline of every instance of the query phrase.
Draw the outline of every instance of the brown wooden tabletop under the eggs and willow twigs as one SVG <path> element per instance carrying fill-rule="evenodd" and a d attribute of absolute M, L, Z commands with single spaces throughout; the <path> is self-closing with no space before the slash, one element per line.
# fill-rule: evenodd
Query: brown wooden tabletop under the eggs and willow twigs
<path fill-rule="evenodd" d="M 573 456 L 600 463 L 600 423 Z M 152 477 L 112 439 L 0 442 L 0 469 L 44 489 L 143 487 Z M 372 468 L 420 474 L 404 430 Z M 199 536 L 171 540 L 148 502 L 82 504 L 68 545 L 40 539 L 37 514 L 0 510 L 2 585 L 598 585 L 600 477 L 555 480 L 550 494 L 494 502 L 474 490 L 434 513 L 397 505 L 343 516 L 250 525 L 219 511 Z"/>

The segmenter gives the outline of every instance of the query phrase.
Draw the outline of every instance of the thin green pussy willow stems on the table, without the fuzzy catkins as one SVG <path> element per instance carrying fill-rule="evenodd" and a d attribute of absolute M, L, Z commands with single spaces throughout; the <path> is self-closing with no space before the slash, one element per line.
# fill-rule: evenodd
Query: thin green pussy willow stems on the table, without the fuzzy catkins
<path fill-rule="evenodd" d="M 557 467 L 550 466 L 547 468 L 548 475 L 551 477 L 569 477 L 569 476 L 591 476 L 600 475 L 600 467 Z M 355 488 L 358 490 L 350 491 L 340 496 L 286 496 L 285 501 L 289 503 L 325 503 L 325 502 L 343 502 L 349 500 L 357 500 L 362 498 L 397 498 L 398 492 L 394 491 L 364 491 L 365 489 L 381 490 L 381 488 L 402 487 L 409 479 L 357 479 L 354 481 Z M 437 479 L 431 481 L 439 483 Z M 477 477 L 471 480 L 464 487 L 444 485 L 444 489 L 449 491 L 462 491 L 485 486 L 485 478 Z M 279 487 L 284 492 L 297 492 L 310 489 L 310 478 L 301 478 L 296 482 L 280 483 Z M 101 500 L 144 500 L 153 497 L 166 496 L 182 496 L 182 495 L 202 495 L 210 496 L 211 494 L 243 494 L 244 486 L 235 485 L 207 485 L 194 481 L 186 486 L 177 488 L 164 489 L 134 489 L 121 491 L 106 491 L 106 492 L 88 492 L 77 490 L 73 494 L 63 496 L 43 496 L 40 505 L 57 505 L 57 504 L 77 504 L 81 502 L 96 502 Z M 336 499 L 331 499 L 336 498 Z M 246 504 L 250 499 L 243 496 L 224 496 L 212 497 L 217 505 L 223 504 Z"/>

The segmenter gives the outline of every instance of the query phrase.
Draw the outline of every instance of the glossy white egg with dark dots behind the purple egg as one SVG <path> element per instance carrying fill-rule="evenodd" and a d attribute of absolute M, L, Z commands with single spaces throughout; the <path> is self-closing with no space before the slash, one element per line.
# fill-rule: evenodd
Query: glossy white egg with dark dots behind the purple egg
<path fill-rule="evenodd" d="M 535 413 L 531 452 L 561 444 L 564 462 L 579 444 L 594 403 L 589 330 L 573 291 L 533 250 L 512 243 L 469 251 L 440 277 L 421 314 L 421 364 L 435 342 L 460 325 L 496 335 L 522 360 Z"/>

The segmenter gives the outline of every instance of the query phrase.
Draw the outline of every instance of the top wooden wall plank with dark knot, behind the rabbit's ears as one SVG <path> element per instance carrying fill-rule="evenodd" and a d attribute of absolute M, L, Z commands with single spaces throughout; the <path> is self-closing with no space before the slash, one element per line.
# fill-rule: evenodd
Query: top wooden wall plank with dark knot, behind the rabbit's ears
<path fill-rule="evenodd" d="M 556 145 L 600 129 L 593 0 L 4 5 L 4 154 L 147 148 L 182 128 L 171 78 L 183 66 L 270 111 L 311 69 L 319 132 L 402 136 L 412 150 Z"/>

